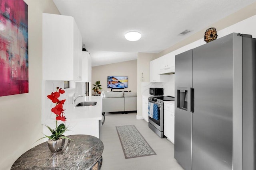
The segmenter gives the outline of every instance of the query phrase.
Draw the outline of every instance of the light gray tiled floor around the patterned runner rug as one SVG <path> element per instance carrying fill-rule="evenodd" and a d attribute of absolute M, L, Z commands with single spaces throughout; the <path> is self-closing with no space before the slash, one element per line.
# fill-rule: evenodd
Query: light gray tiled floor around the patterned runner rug
<path fill-rule="evenodd" d="M 116 126 L 122 125 L 135 125 L 156 155 L 125 159 L 116 132 Z M 174 159 L 174 145 L 158 137 L 146 121 L 136 119 L 136 113 L 106 113 L 101 140 L 104 144 L 101 170 L 183 170 Z"/>

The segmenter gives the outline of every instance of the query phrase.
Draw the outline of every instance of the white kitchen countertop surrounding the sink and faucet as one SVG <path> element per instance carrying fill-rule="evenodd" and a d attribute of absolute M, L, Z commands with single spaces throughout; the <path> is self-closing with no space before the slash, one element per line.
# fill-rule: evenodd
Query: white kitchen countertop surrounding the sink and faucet
<path fill-rule="evenodd" d="M 97 102 L 95 106 L 75 107 L 80 102 Z M 84 96 L 76 99 L 75 104 L 65 103 L 63 105 L 66 123 L 78 122 L 84 120 L 101 120 L 102 119 L 102 97 L 101 96 Z M 55 122 L 56 115 L 51 112 L 50 116 L 42 124 Z"/>

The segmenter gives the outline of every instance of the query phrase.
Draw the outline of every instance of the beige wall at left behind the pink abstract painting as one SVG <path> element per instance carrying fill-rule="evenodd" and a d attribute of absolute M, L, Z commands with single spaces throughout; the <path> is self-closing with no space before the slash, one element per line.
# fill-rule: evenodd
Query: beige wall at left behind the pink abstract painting
<path fill-rule="evenodd" d="M 52 0 L 28 4 L 29 93 L 0 97 L 0 169 L 10 169 L 24 152 L 42 142 L 42 13 L 60 14 Z M 40 154 L 40 153 L 38 153 Z"/>

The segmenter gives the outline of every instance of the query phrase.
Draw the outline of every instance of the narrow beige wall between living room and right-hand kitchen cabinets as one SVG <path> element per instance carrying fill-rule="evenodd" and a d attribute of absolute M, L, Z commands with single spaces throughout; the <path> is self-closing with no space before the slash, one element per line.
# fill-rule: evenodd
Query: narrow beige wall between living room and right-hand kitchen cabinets
<path fill-rule="evenodd" d="M 141 92 L 141 76 L 143 73 L 143 82 L 150 82 L 150 61 L 156 59 L 156 54 L 153 53 L 138 53 L 138 73 L 137 73 L 137 119 L 142 119 L 142 92 Z"/>

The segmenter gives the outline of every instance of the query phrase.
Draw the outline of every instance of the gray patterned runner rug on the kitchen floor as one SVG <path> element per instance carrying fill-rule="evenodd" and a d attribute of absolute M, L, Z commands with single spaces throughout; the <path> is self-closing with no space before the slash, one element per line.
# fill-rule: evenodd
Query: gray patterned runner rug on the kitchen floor
<path fill-rule="evenodd" d="M 116 131 L 126 159 L 156 154 L 134 125 L 116 126 Z"/>

